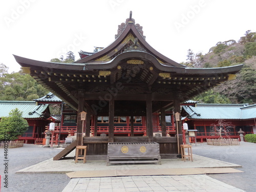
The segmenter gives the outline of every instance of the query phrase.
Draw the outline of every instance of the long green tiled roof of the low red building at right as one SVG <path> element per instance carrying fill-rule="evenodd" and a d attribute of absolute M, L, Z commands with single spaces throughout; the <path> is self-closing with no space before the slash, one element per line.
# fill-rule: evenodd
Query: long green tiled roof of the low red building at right
<path fill-rule="evenodd" d="M 256 104 L 197 104 L 183 106 L 189 119 L 252 119 L 256 118 Z"/>

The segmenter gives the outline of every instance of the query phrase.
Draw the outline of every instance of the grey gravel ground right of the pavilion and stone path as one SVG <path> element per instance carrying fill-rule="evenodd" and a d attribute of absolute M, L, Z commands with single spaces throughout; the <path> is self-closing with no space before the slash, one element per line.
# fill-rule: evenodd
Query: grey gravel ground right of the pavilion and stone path
<path fill-rule="evenodd" d="M 240 142 L 240 145 L 234 146 L 211 146 L 206 143 L 198 143 L 197 146 L 193 145 L 193 154 L 242 165 L 242 168 L 237 169 L 244 173 L 212 174 L 208 176 L 247 192 L 256 191 L 255 143 Z"/>

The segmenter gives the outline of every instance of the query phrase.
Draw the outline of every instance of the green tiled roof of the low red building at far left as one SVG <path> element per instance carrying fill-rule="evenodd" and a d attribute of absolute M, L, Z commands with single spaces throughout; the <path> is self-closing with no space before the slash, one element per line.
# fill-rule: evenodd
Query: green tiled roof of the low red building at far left
<path fill-rule="evenodd" d="M 34 119 L 44 117 L 48 104 L 36 105 L 35 101 L 0 101 L 0 118 L 8 117 L 11 110 L 23 112 L 23 118 Z M 48 117 L 46 117 L 48 118 Z"/>

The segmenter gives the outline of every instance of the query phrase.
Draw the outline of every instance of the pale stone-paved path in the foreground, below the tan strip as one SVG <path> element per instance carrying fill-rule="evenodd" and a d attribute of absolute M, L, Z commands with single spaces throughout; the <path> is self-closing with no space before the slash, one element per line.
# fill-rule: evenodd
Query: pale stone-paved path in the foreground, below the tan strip
<path fill-rule="evenodd" d="M 127 176 L 72 179 L 62 192 L 239 192 L 244 191 L 206 175 Z"/>

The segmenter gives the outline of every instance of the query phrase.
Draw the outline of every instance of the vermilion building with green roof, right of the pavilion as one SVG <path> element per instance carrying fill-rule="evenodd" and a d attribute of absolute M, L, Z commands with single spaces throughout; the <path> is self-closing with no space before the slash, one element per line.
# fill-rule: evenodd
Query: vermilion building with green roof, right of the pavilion
<path fill-rule="evenodd" d="M 182 106 L 183 121 L 188 124 L 188 129 L 197 130 L 199 142 L 206 138 L 240 138 L 240 129 L 244 134 L 256 133 L 256 104 L 188 103 L 190 105 Z M 226 132 L 218 133 L 215 126 L 223 126 Z"/>

